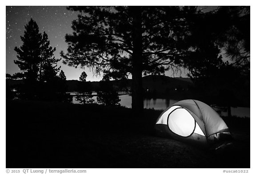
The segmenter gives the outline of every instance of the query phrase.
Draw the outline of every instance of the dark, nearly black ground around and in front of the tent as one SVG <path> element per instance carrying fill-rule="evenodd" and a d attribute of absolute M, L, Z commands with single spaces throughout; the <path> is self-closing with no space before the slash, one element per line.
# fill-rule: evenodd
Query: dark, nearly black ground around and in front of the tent
<path fill-rule="evenodd" d="M 160 111 L 6 101 L 6 168 L 250 168 L 250 119 L 224 121 L 233 144 L 211 151 L 157 137 Z"/>

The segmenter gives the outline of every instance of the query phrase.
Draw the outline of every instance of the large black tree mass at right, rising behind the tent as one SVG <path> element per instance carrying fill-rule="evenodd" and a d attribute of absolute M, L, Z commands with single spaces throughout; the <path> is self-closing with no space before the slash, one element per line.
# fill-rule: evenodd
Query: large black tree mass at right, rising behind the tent
<path fill-rule="evenodd" d="M 184 64 L 196 84 L 201 100 L 209 104 L 248 106 L 250 48 L 248 7 L 220 7 L 187 19 L 187 43 L 194 50 Z M 224 62 L 220 54 L 231 58 Z"/>

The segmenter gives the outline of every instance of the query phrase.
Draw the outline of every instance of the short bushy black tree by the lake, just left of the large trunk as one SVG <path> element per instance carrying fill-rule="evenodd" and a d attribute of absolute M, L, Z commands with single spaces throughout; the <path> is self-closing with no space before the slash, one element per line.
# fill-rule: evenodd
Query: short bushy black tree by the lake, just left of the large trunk
<path fill-rule="evenodd" d="M 113 89 L 109 77 L 106 75 L 100 81 L 100 91 L 97 92 L 97 102 L 107 106 L 120 106 L 118 92 Z"/>

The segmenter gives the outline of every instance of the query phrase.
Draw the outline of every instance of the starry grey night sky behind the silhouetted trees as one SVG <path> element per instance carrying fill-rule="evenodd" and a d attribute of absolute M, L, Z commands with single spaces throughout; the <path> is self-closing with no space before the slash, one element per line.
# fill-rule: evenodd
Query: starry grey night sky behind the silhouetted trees
<path fill-rule="evenodd" d="M 54 52 L 56 58 L 60 58 L 61 50 L 67 52 L 65 35 L 72 33 L 71 23 L 72 20 L 77 19 L 77 12 L 68 11 L 65 6 L 6 6 L 6 73 L 20 72 L 19 67 L 13 62 L 17 60 L 14 47 L 22 45 L 20 36 L 24 35 L 24 26 L 31 18 L 36 21 L 41 33 L 46 32 L 51 46 L 56 47 Z M 83 71 L 88 75 L 87 81 L 102 79 L 93 76 L 88 68 L 75 69 L 64 65 L 62 61 L 58 65 L 61 66 L 67 80 L 79 79 Z M 181 76 L 186 77 L 185 73 L 183 71 Z M 173 76 L 171 72 L 167 72 L 166 75 Z M 175 76 L 180 76 L 180 73 Z"/>

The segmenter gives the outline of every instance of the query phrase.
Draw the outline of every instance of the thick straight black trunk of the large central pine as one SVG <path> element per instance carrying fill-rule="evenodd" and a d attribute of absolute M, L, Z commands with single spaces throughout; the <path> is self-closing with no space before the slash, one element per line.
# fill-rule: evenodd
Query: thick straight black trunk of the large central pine
<path fill-rule="evenodd" d="M 132 110 L 140 116 L 143 112 L 141 7 L 133 6 L 131 10 L 133 14 Z"/>

